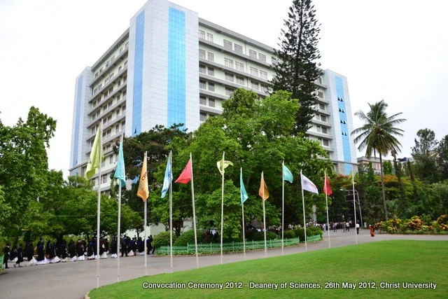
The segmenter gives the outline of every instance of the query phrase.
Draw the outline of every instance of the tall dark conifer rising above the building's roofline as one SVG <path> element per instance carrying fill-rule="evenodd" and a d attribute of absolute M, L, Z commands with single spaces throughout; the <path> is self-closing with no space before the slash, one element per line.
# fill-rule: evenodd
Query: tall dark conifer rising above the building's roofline
<path fill-rule="evenodd" d="M 311 0 L 294 0 L 284 26 L 279 50 L 274 50 L 278 62 L 273 64 L 272 90 L 288 90 L 293 99 L 299 99 L 293 132 L 304 134 L 317 104 L 315 82 L 322 75 L 316 63 L 321 57 L 317 48 L 320 29 Z"/>

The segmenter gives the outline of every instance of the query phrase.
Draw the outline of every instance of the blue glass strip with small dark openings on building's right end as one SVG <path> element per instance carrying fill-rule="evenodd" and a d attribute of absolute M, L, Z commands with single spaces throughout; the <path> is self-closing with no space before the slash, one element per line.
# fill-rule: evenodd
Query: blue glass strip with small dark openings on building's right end
<path fill-rule="evenodd" d="M 350 139 L 349 139 L 349 127 L 347 126 L 347 116 L 345 109 L 345 101 L 344 101 L 344 85 L 342 84 L 342 78 L 335 76 L 335 84 L 336 84 L 336 96 L 337 96 L 337 106 L 339 108 L 339 119 L 341 132 L 342 132 L 342 153 L 344 154 L 344 161 L 351 162 L 351 153 L 350 153 Z M 351 164 L 344 165 L 344 173 L 350 174 L 351 172 Z"/>

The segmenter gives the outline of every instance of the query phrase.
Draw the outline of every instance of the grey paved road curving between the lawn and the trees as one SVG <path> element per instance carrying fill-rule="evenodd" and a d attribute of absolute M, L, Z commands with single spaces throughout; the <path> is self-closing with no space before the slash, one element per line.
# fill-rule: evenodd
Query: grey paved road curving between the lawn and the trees
<path fill-rule="evenodd" d="M 357 237 L 358 244 L 389 239 L 448 241 L 448 235 L 376 235 L 375 237 L 370 237 L 368 230 L 361 230 Z M 331 247 L 356 244 L 354 230 L 350 230 L 350 232 L 342 232 L 342 230 L 330 232 L 330 244 Z M 308 244 L 307 249 L 308 251 L 328 249 L 328 235 L 325 234 L 324 240 L 321 242 Z M 284 254 L 304 251 L 304 244 L 300 244 L 300 246 L 285 248 Z M 267 251 L 267 257 L 272 256 L 281 256 L 281 249 Z M 248 260 L 264 257 L 264 251 L 250 251 L 246 253 L 246 259 Z M 243 253 L 225 254 L 223 256 L 223 263 L 233 263 L 242 260 L 244 260 Z M 219 255 L 199 257 L 200 267 L 218 265 L 219 263 L 221 263 L 221 256 Z M 86 260 L 75 263 L 57 263 L 8 269 L 6 273 L 0 274 L 0 298 L 83 298 L 85 293 L 97 286 L 96 265 L 96 261 Z M 174 257 L 174 271 L 195 269 L 195 267 L 195 257 Z M 144 256 L 120 258 L 120 269 L 121 281 L 144 276 Z M 148 274 L 169 272 L 169 257 L 148 256 Z M 99 284 L 101 286 L 116 282 L 116 274 L 116 259 L 100 260 Z"/>

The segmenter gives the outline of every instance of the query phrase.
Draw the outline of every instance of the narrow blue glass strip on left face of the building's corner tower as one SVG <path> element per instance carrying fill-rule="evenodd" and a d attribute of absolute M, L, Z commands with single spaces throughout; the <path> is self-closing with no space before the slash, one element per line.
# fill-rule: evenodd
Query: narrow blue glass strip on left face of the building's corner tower
<path fill-rule="evenodd" d="M 135 25 L 134 84 L 132 86 L 132 137 L 141 133 L 144 34 L 145 11 L 142 11 L 137 15 Z"/>

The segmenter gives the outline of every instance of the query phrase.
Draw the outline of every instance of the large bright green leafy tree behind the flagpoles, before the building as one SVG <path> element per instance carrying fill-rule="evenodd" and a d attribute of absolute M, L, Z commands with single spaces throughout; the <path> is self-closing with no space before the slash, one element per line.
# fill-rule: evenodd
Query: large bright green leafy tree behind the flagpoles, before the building
<path fill-rule="evenodd" d="M 293 137 L 297 100 L 290 98 L 290 92 L 276 92 L 265 99 L 258 99 L 254 92 L 239 89 L 223 103 L 221 116 L 209 118 L 195 132 L 188 144 L 174 145 L 177 155 L 173 162 L 174 179 L 181 173 L 193 155 L 193 173 L 198 222 L 202 228 L 216 227 L 221 223 L 221 174 L 216 162 L 225 152 L 225 160 L 233 162 L 233 167 L 225 169 L 225 239 L 235 239 L 241 232 L 241 207 L 239 207 L 239 169 L 243 169 L 244 183 L 249 199 L 244 204 L 246 223 L 262 219 L 262 201 L 258 196 L 260 174 L 263 171 L 269 188 L 269 199 L 265 201 L 267 225 L 280 225 L 281 216 L 281 161 L 295 174 L 295 182 L 286 184 L 285 222 L 300 223 L 302 218 L 302 195 L 300 169 L 316 185 L 323 183 L 323 169 L 331 169 L 326 151 L 316 141 Z M 173 146 L 173 145 L 171 145 Z M 183 147 L 185 146 L 185 147 Z M 319 159 L 318 159 L 319 158 Z M 159 189 L 151 200 L 154 209 L 163 212 L 163 223 L 168 220 L 168 200 L 160 199 L 160 187 L 165 173 L 165 165 L 160 165 Z M 325 205 L 321 197 L 307 195 L 307 211 L 312 204 Z M 173 201 L 178 202 L 186 214 L 191 216 L 190 185 L 174 183 Z M 174 204 L 176 207 L 176 204 Z M 218 209 L 217 209 L 218 208 Z M 322 208 L 323 209 L 323 208 Z M 211 224 L 213 223 L 213 224 Z"/>

